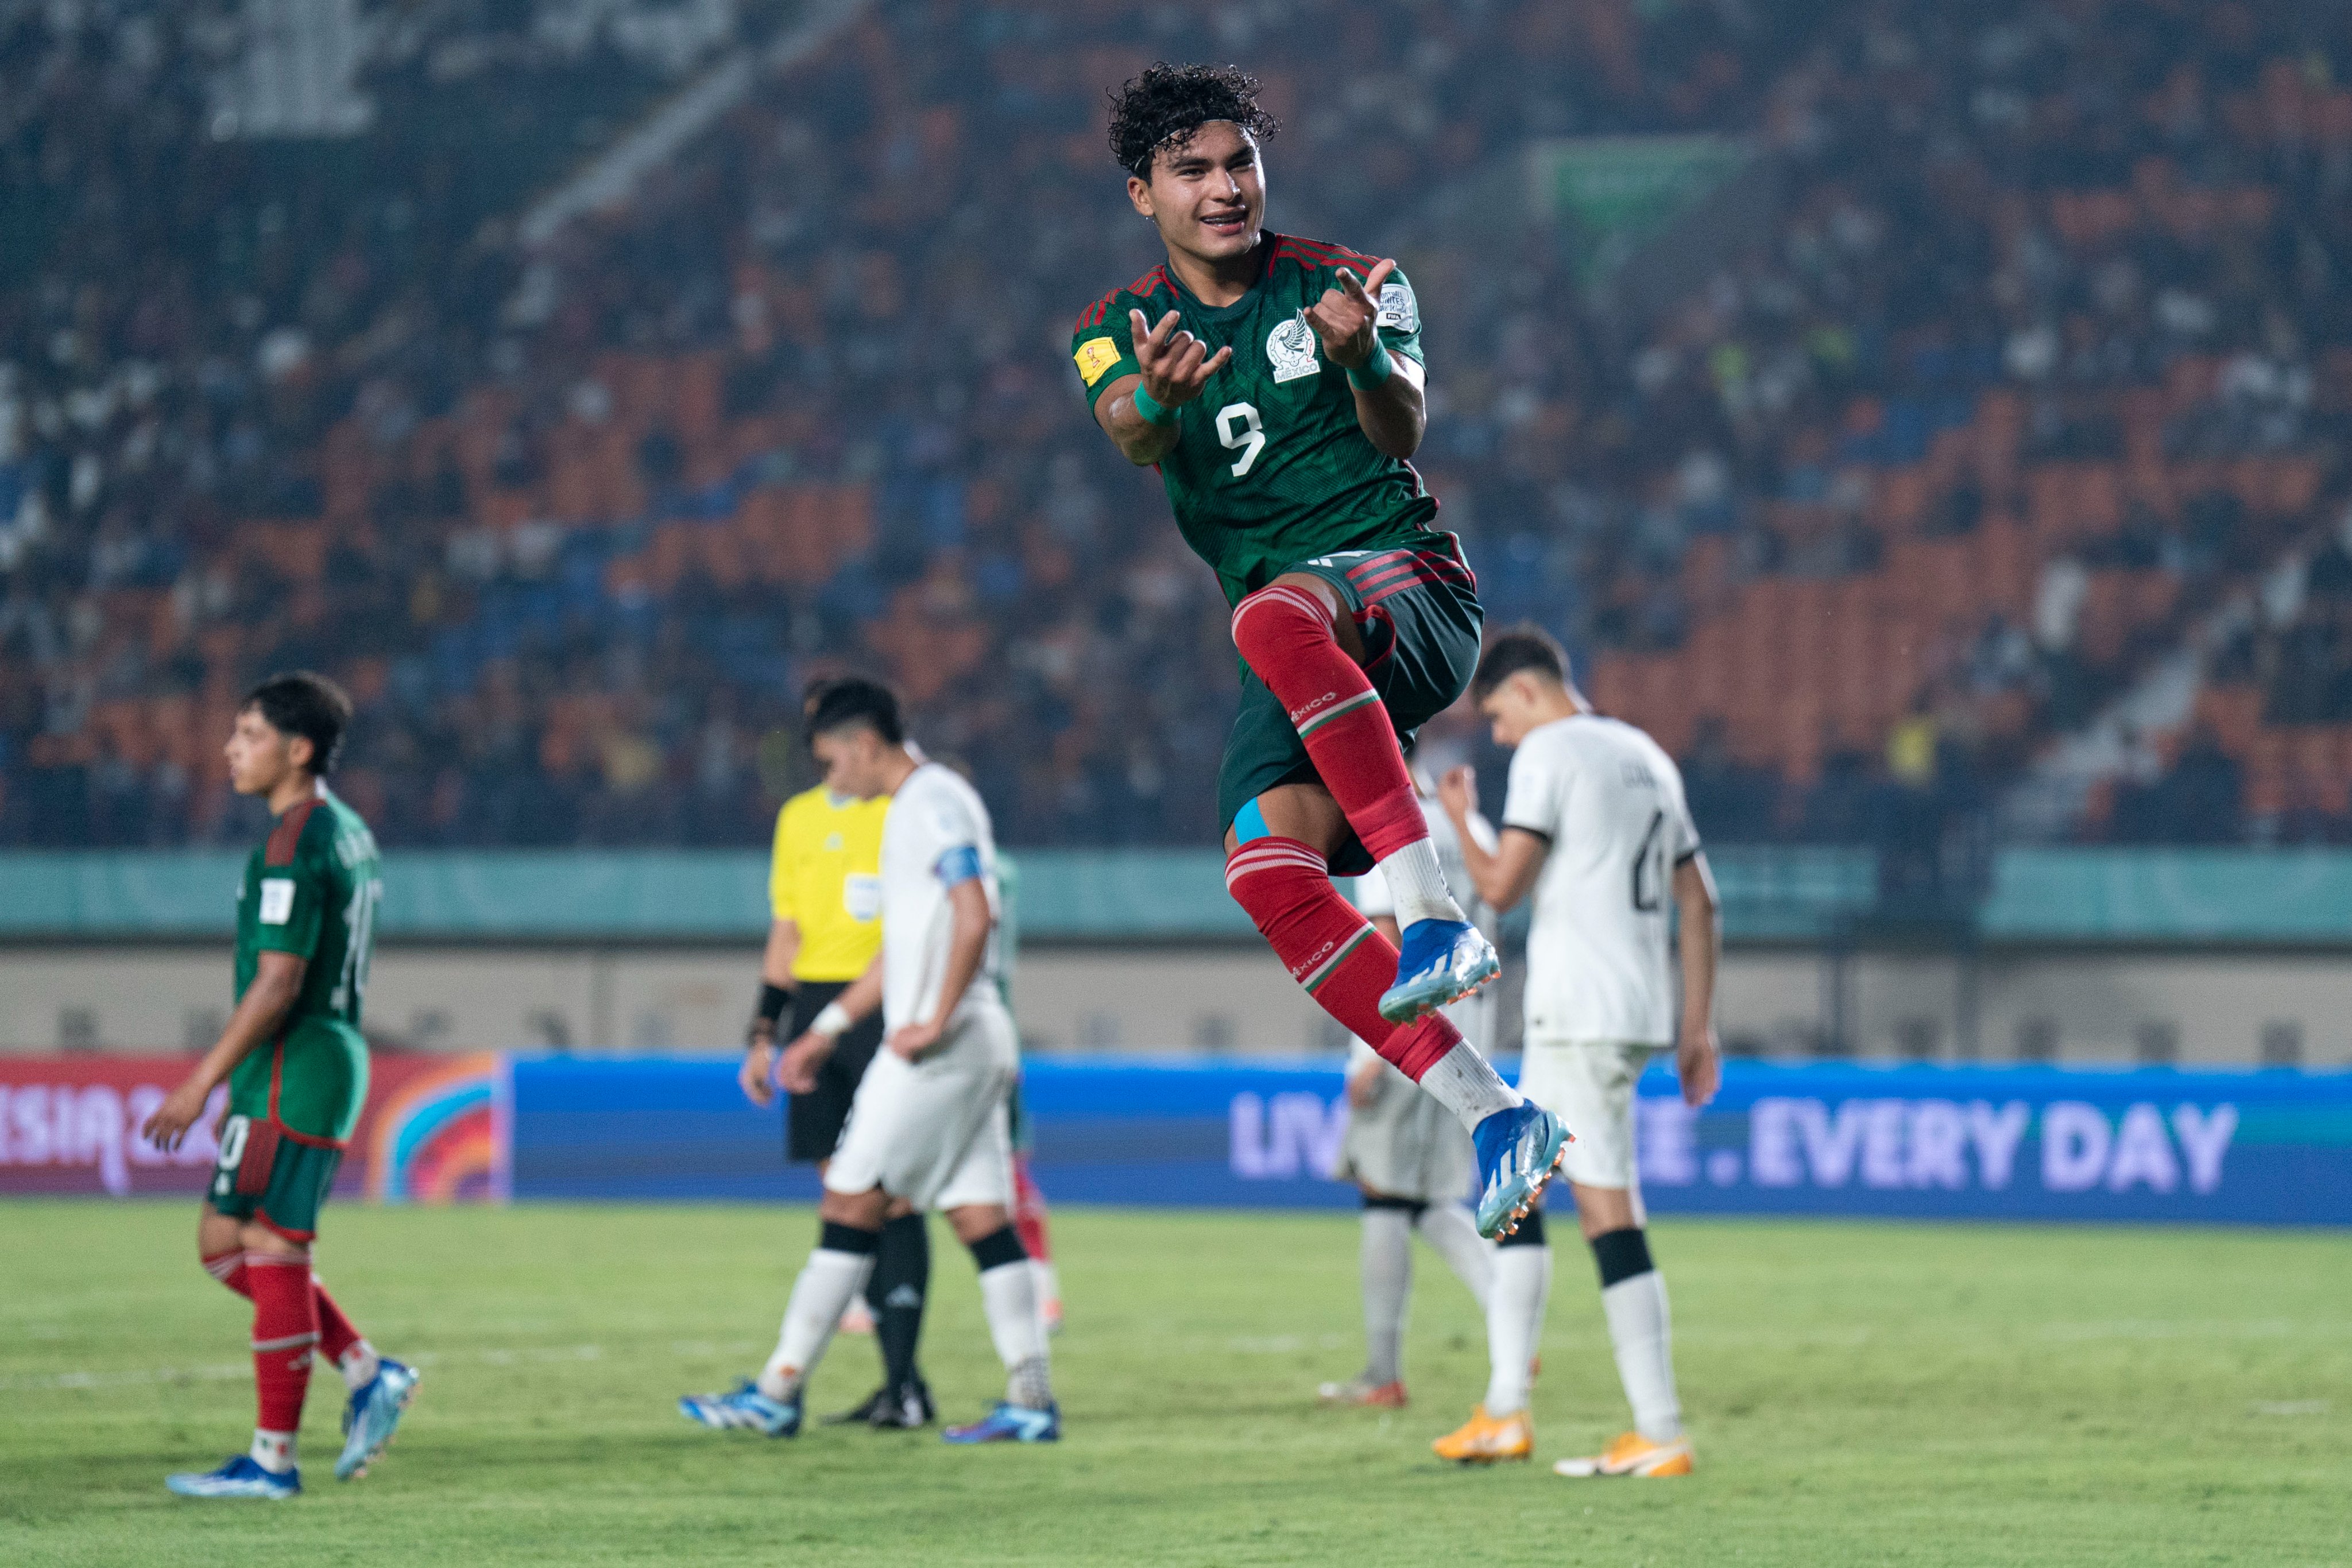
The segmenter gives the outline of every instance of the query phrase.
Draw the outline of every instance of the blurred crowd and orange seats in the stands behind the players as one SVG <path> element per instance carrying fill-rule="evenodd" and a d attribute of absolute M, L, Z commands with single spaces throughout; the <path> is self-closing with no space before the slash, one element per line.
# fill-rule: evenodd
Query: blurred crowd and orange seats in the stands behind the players
<path fill-rule="evenodd" d="M 541 165 L 447 148 L 642 92 L 609 52 L 499 75 L 440 158 L 270 146 L 195 134 L 191 14 L 85 9 L 0 7 L 40 219 L 0 223 L 0 842 L 242 832 L 216 731 L 282 665 L 360 698 L 339 785 L 395 844 L 755 842 L 851 665 L 1007 842 L 1209 842 L 1225 609 L 1063 357 L 1152 261 L 1101 89 L 1202 54 L 1287 122 L 1275 226 L 1428 301 L 1423 468 L 1494 618 L 1562 632 L 1712 837 L 1933 860 L 2206 623 L 2192 722 L 2065 830 L 2352 830 L 2326 7 L 889 2 L 539 247 Z M 1621 132 L 1743 136 L 1773 188 L 1679 299 L 1437 216 Z"/>

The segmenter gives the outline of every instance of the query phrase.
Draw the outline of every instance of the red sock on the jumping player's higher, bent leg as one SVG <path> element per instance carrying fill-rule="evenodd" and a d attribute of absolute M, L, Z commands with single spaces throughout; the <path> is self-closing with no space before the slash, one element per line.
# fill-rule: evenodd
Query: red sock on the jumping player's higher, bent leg
<path fill-rule="evenodd" d="M 1397 726 L 1371 679 L 1341 651 L 1322 599 L 1289 583 L 1261 588 L 1232 611 L 1232 646 L 1291 715 L 1315 773 L 1374 860 L 1430 837 Z"/>

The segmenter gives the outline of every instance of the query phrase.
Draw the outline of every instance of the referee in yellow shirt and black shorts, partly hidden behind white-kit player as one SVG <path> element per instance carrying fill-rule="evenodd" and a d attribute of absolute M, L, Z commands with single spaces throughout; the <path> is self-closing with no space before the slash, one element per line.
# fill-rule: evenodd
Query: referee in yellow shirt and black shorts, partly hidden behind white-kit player
<path fill-rule="evenodd" d="M 818 693 L 811 693 L 818 696 Z M 776 1093 L 776 1025 L 790 1013 L 786 1039 L 807 1030 L 837 1034 L 840 1044 L 816 1072 L 816 1088 L 790 1095 L 783 1114 L 783 1157 L 823 1171 L 842 1140 L 858 1079 L 882 1046 L 882 1011 L 849 1027 L 833 1006 L 882 950 L 882 818 L 889 797 L 835 797 L 826 785 L 802 790 L 776 813 L 776 849 L 767 896 L 774 922 L 760 961 L 760 1011 L 743 1053 L 743 1093 L 769 1105 Z M 830 1013 L 830 1016 L 828 1016 Z M 931 1284 L 931 1239 L 920 1213 L 882 1227 L 882 1251 L 866 1286 L 882 1347 L 882 1387 L 833 1422 L 922 1427 L 931 1420 L 931 1389 L 915 1366 L 922 1305 Z"/>

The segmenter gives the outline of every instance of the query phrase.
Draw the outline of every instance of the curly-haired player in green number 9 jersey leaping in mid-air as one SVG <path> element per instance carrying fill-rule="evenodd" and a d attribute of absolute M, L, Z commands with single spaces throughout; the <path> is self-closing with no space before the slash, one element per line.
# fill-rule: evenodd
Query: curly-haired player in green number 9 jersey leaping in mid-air
<path fill-rule="evenodd" d="M 1225 886 L 1327 1013 L 1470 1128 L 1491 1237 L 1569 1131 L 1437 1011 L 1501 964 L 1446 891 L 1399 748 L 1461 696 L 1482 611 L 1406 461 L 1425 428 L 1414 289 L 1395 261 L 1263 228 L 1272 132 L 1235 68 L 1160 63 L 1120 89 L 1110 150 L 1167 261 L 1089 306 L 1070 355 L 1235 607 Z M 1331 886 L 1374 865 L 1397 945 Z"/>

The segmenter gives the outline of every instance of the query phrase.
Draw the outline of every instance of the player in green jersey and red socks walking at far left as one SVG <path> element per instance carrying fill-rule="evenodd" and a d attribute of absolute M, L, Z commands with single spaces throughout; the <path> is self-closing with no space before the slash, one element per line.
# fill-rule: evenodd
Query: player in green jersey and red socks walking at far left
<path fill-rule="evenodd" d="M 350 698 L 308 672 L 245 696 L 228 736 L 228 783 L 278 818 L 238 889 L 238 1009 L 219 1044 L 148 1117 L 160 1150 L 228 1084 L 221 1159 L 195 1222 L 205 1272 L 254 1302 L 254 1446 L 219 1469 L 165 1481 L 181 1497 L 294 1497 L 294 1434 L 313 1347 L 343 1373 L 343 1453 L 334 1479 L 367 1472 L 416 1392 L 416 1371 L 379 1356 L 310 1272 L 318 1211 L 334 1187 L 360 1107 L 367 1041 L 360 997 L 383 875 L 376 839 L 327 790 Z"/>

